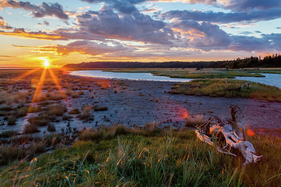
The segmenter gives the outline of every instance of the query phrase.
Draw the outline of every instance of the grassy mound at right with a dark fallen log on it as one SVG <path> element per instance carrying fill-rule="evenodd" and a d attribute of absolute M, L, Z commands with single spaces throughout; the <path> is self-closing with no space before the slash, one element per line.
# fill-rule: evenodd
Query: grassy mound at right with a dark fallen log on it
<path fill-rule="evenodd" d="M 226 85 L 225 81 L 227 81 Z M 211 97 L 238 97 L 238 98 L 255 98 L 270 102 L 281 102 L 281 90 L 275 86 L 249 82 L 251 87 L 242 88 L 239 91 L 224 91 L 228 88 L 238 88 L 243 86 L 245 80 L 234 79 L 195 79 L 190 82 L 174 84 L 171 93 L 186 95 L 205 95 Z"/>

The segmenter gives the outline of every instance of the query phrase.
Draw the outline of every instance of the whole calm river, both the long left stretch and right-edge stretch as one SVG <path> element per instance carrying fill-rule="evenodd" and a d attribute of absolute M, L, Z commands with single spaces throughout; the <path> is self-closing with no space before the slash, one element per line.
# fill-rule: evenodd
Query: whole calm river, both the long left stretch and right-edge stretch
<path fill-rule="evenodd" d="M 151 73 L 117 73 L 107 72 L 101 70 L 84 70 L 73 71 L 72 75 L 81 75 L 89 77 L 111 78 L 111 79 L 132 79 L 132 80 L 155 80 L 155 81 L 174 81 L 174 82 L 189 82 L 192 79 L 177 79 L 164 76 L 154 76 Z M 281 88 L 281 74 L 261 73 L 265 77 L 236 77 L 236 79 L 253 81 L 267 84 L 270 86 L 277 86 Z"/>

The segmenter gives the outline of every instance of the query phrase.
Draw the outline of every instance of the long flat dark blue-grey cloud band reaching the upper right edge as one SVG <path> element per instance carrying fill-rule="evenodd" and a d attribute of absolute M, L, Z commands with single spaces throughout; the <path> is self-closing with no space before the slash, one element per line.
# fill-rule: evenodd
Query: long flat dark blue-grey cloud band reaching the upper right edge
<path fill-rule="evenodd" d="M 216 23 L 231 23 L 243 21 L 267 21 L 281 17 L 281 9 L 272 9 L 269 11 L 255 10 L 252 12 L 201 12 L 188 10 L 173 10 L 160 14 L 162 19 L 179 18 L 181 20 L 195 20 Z"/>

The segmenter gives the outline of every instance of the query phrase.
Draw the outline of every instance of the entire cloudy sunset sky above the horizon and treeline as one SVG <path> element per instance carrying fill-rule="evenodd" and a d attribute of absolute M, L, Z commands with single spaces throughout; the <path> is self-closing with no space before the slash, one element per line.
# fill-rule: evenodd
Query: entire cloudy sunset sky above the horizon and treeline
<path fill-rule="evenodd" d="M 0 67 L 280 51 L 280 0 L 0 0 Z"/>

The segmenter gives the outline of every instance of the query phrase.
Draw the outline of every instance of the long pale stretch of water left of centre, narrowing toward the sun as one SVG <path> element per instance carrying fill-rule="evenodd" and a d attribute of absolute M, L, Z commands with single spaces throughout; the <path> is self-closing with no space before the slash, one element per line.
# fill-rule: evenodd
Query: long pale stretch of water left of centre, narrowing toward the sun
<path fill-rule="evenodd" d="M 131 80 L 155 80 L 155 81 L 175 81 L 189 82 L 192 79 L 177 79 L 164 76 L 154 76 L 151 73 L 117 73 L 101 70 L 73 71 L 71 75 L 82 75 L 89 77 L 111 78 L 111 79 L 131 79 Z"/>

